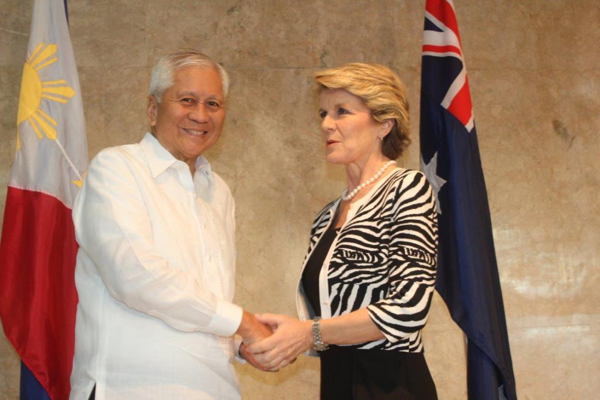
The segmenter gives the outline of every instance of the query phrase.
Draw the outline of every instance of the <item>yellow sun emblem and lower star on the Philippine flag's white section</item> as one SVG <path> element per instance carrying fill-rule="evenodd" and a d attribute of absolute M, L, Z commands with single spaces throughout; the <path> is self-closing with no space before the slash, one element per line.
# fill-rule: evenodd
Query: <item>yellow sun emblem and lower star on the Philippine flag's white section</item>
<path fill-rule="evenodd" d="M 40 43 L 35 47 L 25 65 L 23 65 L 19 112 L 17 114 L 17 151 L 21 148 L 19 126 L 23 122 L 28 121 L 38 138 L 43 139 L 43 133 L 48 139 L 54 140 L 59 148 L 61 148 L 68 163 L 71 164 L 76 175 L 80 178 L 79 181 L 71 182 L 81 187 L 83 178 L 80 177 L 79 172 L 77 172 L 77 169 L 71 163 L 65 149 L 62 148 L 61 143 L 57 140 L 56 128 L 58 128 L 58 123 L 40 107 L 43 98 L 64 104 L 75 95 L 75 91 L 68 86 L 66 80 L 43 81 L 38 73 L 38 71 L 58 61 L 56 50 L 58 50 L 58 46 L 54 43 Z"/>

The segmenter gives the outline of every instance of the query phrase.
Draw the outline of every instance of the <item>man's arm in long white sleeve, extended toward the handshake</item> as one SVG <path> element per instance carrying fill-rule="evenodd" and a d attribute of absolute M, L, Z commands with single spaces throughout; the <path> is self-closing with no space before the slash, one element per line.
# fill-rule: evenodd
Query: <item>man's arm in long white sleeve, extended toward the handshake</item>
<path fill-rule="evenodd" d="M 242 308 L 215 296 L 191 273 L 169 265 L 154 245 L 138 185 L 125 154 L 100 152 L 73 207 L 77 242 L 110 295 L 184 332 L 233 335 L 242 326 Z M 257 327 L 247 331 L 251 339 L 265 332 Z"/>

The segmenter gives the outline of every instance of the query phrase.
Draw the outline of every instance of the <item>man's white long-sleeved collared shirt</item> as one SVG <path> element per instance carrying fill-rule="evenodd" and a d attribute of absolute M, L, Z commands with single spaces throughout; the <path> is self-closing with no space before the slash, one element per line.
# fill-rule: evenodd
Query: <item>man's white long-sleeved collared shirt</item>
<path fill-rule="evenodd" d="M 104 149 L 73 206 L 71 399 L 239 399 L 231 365 L 235 219 L 200 156 L 192 177 L 154 136 Z"/>

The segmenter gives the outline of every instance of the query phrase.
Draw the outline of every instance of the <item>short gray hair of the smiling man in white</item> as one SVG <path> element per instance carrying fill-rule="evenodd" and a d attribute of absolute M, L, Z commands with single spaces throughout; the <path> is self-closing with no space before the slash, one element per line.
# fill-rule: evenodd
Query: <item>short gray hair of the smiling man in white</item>
<path fill-rule="evenodd" d="M 229 90 L 229 74 L 220 64 L 212 61 L 209 56 L 194 49 L 181 49 L 167 53 L 159 58 L 152 68 L 149 94 L 153 95 L 158 103 L 163 98 L 163 93 L 173 86 L 173 77 L 177 71 L 185 67 L 212 67 L 221 77 L 223 96 L 227 97 Z"/>

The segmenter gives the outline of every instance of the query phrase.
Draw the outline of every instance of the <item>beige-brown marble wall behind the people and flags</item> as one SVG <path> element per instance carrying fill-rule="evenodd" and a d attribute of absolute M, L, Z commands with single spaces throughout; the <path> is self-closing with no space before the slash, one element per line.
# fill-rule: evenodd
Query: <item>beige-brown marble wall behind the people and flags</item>
<path fill-rule="evenodd" d="M 600 391 L 600 12 L 596 0 L 454 0 L 475 106 L 521 399 Z M 15 148 L 32 0 L 0 0 L 0 211 Z M 136 142 L 157 55 L 196 47 L 229 70 L 207 155 L 237 204 L 236 302 L 293 314 L 311 219 L 344 188 L 323 161 L 311 74 L 370 61 L 406 82 L 418 142 L 424 1 L 71 0 L 89 154 Z M 401 163 L 418 169 L 418 144 Z M 436 295 L 424 334 L 440 399 L 466 398 L 464 339 Z M 0 398 L 19 360 L 0 339 Z M 319 364 L 237 366 L 247 399 L 317 398 Z"/>

